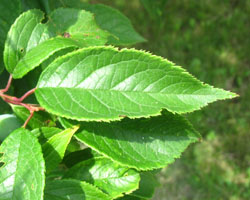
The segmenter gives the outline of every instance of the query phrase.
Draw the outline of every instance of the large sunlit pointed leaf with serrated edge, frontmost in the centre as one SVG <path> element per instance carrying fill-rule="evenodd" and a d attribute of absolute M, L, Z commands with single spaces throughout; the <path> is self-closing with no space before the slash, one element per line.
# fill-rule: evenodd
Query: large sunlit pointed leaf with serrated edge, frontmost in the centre
<path fill-rule="evenodd" d="M 118 120 L 198 110 L 236 95 L 203 84 L 149 53 L 89 47 L 69 53 L 42 73 L 36 97 L 47 111 L 76 120 Z"/>

